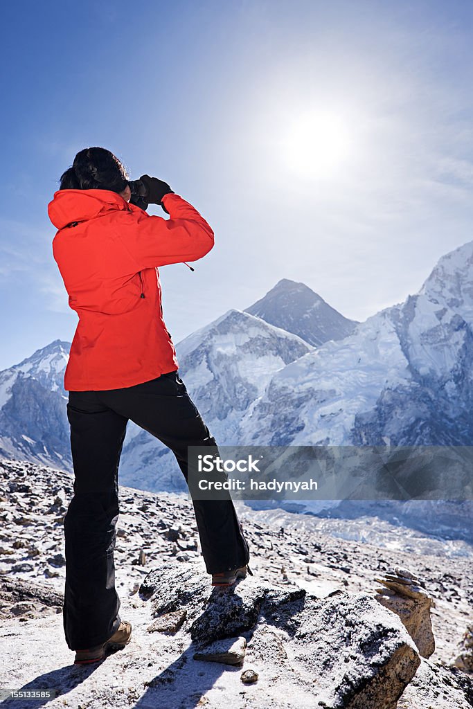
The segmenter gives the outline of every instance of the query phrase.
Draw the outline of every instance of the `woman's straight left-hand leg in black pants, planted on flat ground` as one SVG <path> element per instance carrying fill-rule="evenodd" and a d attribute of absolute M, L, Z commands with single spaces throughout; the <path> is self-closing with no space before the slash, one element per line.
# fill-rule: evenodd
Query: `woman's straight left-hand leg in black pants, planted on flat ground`
<path fill-rule="evenodd" d="M 99 402 L 94 391 L 70 391 L 67 418 L 74 496 L 64 520 L 63 623 L 67 646 L 79 650 L 106 642 L 121 623 L 113 551 L 128 419 Z"/>

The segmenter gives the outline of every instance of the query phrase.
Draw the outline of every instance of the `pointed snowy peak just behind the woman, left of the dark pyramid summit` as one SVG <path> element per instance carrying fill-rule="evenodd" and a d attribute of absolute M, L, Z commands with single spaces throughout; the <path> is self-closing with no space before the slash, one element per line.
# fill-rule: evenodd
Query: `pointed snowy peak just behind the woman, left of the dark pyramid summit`
<path fill-rule="evenodd" d="M 179 375 L 219 445 L 238 443 L 240 420 L 262 396 L 272 374 L 311 349 L 297 335 L 238 310 L 176 346 Z M 174 455 L 134 425 L 128 425 L 120 474 L 123 484 L 141 489 L 184 489 Z"/>

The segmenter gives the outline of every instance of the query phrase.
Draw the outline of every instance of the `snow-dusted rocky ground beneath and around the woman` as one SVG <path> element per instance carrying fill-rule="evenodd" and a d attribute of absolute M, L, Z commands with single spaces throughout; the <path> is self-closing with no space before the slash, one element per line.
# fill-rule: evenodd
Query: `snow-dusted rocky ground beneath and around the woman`
<path fill-rule="evenodd" d="M 341 520 L 238 506 L 255 576 L 241 581 L 222 601 L 215 598 L 204 574 L 187 497 L 125 487 L 121 488 L 116 582 L 121 618 L 133 623 L 132 641 L 99 666 L 74 666 L 74 655 L 62 635 L 62 520 L 71 497 L 69 474 L 28 462 L 0 461 L 1 687 L 56 688 L 57 698 L 48 701 L 52 708 L 387 709 L 396 705 L 389 698 L 388 685 L 392 688 L 396 676 L 404 672 L 406 688 L 397 702 L 399 709 L 473 706 L 471 676 L 452 668 L 464 630 L 472 621 L 473 549 L 464 542 L 443 544 L 411 530 L 388 530 L 379 520 L 350 520 L 344 531 Z M 354 524 L 357 535 L 369 542 L 340 538 L 352 535 Z M 402 549 L 402 534 L 408 551 Z M 379 545 L 372 543 L 374 538 L 379 538 Z M 418 657 L 399 618 L 374 600 L 379 586 L 374 579 L 394 566 L 411 569 L 433 598 L 435 652 L 429 659 Z M 153 569 L 160 571 L 153 576 Z M 164 588 L 156 582 L 160 577 L 167 579 Z M 150 584 L 153 578 L 154 585 Z M 177 603 L 172 588 L 181 589 L 178 595 L 185 596 L 182 591 L 189 584 L 194 584 L 194 595 L 184 605 Z M 223 625 L 217 623 L 220 630 L 212 642 L 236 643 L 239 664 L 194 659 L 199 637 L 193 624 L 210 613 L 210 625 L 203 626 L 203 637 L 210 642 L 208 628 L 216 618 L 226 618 L 235 598 L 238 613 L 246 608 L 251 622 L 245 615 L 240 624 L 229 625 L 228 619 Z M 174 616 L 164 618 L 169 613 L 179 616 L 175 632 L 166 630 L 174 622 Z M 235 620 L 233 611 L 230 616 Z M 152 623 L 157 623 L 157 629 L 150 632 Z M 349 635 L 348 626 L 352 627 Z M 233 629 L 230 640 L 221 637 L 226 635 L 223 627 Z M 227 660 L 235 659 L 232 643 L 227 646 Z M 217 657 L 222 656 L 217 653 Z M 363 698 L 360 689 L 363 682 L 376 685 L 373 668 L 381 666 L 387 673 L 385 703 L 376 696 Z M 243 671 L 257 674 L 257 681 L 244 683 Z M 5 703 L 16 708 L 40 704 Z"/>

